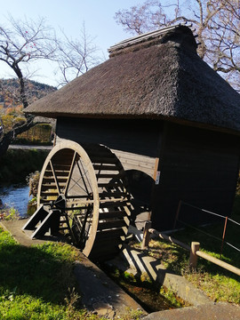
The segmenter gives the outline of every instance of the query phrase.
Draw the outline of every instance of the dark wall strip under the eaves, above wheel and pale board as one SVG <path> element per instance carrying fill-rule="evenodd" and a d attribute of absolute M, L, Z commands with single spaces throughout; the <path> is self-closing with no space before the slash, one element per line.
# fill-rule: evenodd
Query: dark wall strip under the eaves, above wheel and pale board
<path fill-rule="evenodd" d="M 156 120 L 58 118 L 57 135 L 79 143 L 101 143 L 111 149 L 156 157 L 162 127 L 162 122 Z"/>

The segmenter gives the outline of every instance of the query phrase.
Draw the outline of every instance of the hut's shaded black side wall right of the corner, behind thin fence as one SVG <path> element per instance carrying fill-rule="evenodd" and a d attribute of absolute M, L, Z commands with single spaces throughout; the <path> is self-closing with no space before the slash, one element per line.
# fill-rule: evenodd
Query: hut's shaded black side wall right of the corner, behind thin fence
<path fill-rule="evenodd" d="M 172 228 L 180 200 L 230 215 L 236 191 L 239 137 L 168 124 L 162 147 L 160 181 L 154 192 L 153 227 Z M 203 212 L 193 209 L 187 212 L 186 207 L 185 212 L 181 219 L 190 223 L 210 220 Z"/>

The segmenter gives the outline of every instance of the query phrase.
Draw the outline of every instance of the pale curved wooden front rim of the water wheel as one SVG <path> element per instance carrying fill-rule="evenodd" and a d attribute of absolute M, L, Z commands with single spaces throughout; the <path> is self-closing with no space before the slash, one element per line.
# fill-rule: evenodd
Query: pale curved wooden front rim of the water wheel
<path fill-rule="evenodd" d="M 94 244 L 95 236 L 98 229 L 98 223 L 99 223 L 99 212 L 100 212 L 100 199 L 99 199 L 99 192 L 98 192 L 98 183 L 97 178 L 92 166 L 92 162 L 90 157 L 87 155 L 86 151 L 83 147 L 81 147 L 78 143 L 72 141 L 72 140 L 64 140 L 61 141 L 58 145 L 52 148 L 49 155 L 46 157 L 44 166 L 42 169 L 42 172 L 40 174 L 39 178 L 39 184 L 38 184 L 38 191 L 37 191 L 37 207 L 40 206 L 41 201 L 41 195 L 42 195 L 42 186 L 44 181 L 44 174 L 47 170 L 47 167 L 49 165 L 52 165 L 52 159 L 54 156 L 58 156 L 58 153 L 60 154 L 63 150 L 69 149 L 71 151 L 74 151 L 74 155 L 80 156 L 80 158 L 83 160 L 84 165 L 87 169 L 87 172 L 89 174 L 89 178 L 92 182 L 92 223 L 91 223 L 91 232 L 88 235 L 87 241 L 84 245 L 83 253 L 88 256 L 90 252 L 92 251 L 92 246 Z M 52 175 L 54 176 L 54 172 L 52 171 Z M 57 183 L 56 183 L 57 185 Z M 57 187 L 57 186 L 56 186 Z M 60 196 L 60 194 L 59 194 Z"/>

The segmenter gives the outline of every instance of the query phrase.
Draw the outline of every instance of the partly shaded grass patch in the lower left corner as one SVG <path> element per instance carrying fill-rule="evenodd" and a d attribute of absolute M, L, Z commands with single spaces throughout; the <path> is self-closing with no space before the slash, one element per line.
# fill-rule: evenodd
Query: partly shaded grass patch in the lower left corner
<path fill-rule="evenodd" d="M 24 247 L 0 228 L 0 318 L 98 319 L 86 313 L 76 292 L 77 258 L 68 244 Z"/>

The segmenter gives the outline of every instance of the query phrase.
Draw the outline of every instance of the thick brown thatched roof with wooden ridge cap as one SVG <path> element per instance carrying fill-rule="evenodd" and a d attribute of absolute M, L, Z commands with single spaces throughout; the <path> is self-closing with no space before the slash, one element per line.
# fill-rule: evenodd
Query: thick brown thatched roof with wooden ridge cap
<path fill-rule="evenodd" d="M 128 39 L 27 108 L 38 116 L 164 118 L 240 131 L 240 95 L 196 53 L 188 27 Z"/>

